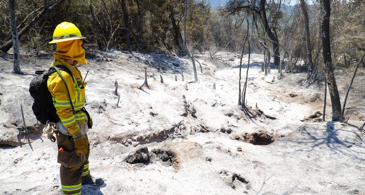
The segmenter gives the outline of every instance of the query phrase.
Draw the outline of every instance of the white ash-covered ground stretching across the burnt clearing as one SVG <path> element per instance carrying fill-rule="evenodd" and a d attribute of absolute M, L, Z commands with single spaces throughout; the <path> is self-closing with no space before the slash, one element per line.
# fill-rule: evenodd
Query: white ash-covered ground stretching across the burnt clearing
<path fill-rule="evenodd" d="M 89 70 L 85 107 L 94 123 L 88 133 L 90 171 L 105 180 L 100 187 L 83 186 L 82 194 L 365 193 L 364 131 L 343 123 L 308 123 L 318 121 L 320 113 L 314 113 L 322 112 L 323 80 L 306 88 L 299 85 L 306 73 L 277 80 L 274 67 L 265 77 L 260 72 L 263 56 L 251 54 L 246 116 L 237 106 L 239 55 L 217 56 L 227 64 L 197 56 L 203 68 L 201 74 L 196 64 L 199 83 L 186 83 L 193 80 L 192 65 L 181 56 L 170 60 L 162 69 L 165 74 L 146 62 L 161 66 L 170 58 L 157 54 L 112 50 L 109 61 L 101 57 L 80 65 L 83 75 Z M 28 93 L 34 71 L 47 69 L 52 59 L 22 62 L 27 75 L 14 75 L 12 56 L 1 57 L 0 194 L 62 194 L 57 146 L 37 129 Z M 150 89 L 140 90 L 146 65 Z M 242 83 L 246 68 L 247 63 Z M 20 104 L 28 135 L 19 133 Z M 346 107 L 358 104 L 350 101 Z M 330 109 L 328 99 L 327 113 Z M 363 114 L 357 111 L 354 118 L 364 119 Z"/>

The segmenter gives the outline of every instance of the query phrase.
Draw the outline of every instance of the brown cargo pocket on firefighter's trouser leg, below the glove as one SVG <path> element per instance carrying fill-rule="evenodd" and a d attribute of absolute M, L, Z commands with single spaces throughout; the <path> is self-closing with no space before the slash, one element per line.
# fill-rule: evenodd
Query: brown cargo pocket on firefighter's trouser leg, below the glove
<path fill-rule="evenodd" d="M 80 153 L 80 156 L 76 155 L 76 152 L 71 151 L 58 151 L 57 162 L 67 168 L 74 168 L 84 166 L 85 154 Z"/>

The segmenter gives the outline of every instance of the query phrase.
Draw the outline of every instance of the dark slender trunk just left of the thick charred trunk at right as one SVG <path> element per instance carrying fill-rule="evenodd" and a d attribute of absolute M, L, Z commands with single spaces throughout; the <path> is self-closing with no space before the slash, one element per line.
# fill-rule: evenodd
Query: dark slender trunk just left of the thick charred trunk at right
<path fill-rule="evenodd" d="M 307 12 L 307 5 L 304 0 L 300 0 L 300 7 L 303 11 L 304 15 L 304 26 L 306 30 L 306 45 L 307 45 L 307 58 L 308 58 L 308 75 L 306 82 L 310 82 L 313 78 L 315 66 L 312 60 L 312 48 L 311 48 L 311 38 L 310 38 L 310 31 L 309 31 L 309 20 L 308 20 L 308 12 Z"/>

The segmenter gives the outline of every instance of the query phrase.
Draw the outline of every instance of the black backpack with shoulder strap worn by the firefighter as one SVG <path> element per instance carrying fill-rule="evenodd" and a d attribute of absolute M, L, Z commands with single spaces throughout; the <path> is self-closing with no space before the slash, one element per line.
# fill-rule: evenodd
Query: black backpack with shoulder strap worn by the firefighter
<path fill-rule="evenodd" d="M 71 71 L 67 67 L 65 67 L 64 65 L 55 65 L 53 67 L 50 67 L 48 71 L 45 70 L 35 71 L 35 74 L 37 74 L 37 76 L 30 82 L 29 85 L 29 93 L 34 99 L 32 110 L 37 120 L 42 124 L 46 124 L 48 120 L 53 123 L 57 123 L 59 121 L 59 117 L 53 105 L 51 93 L 49 92 L 47 87 L 48 77 L 53 72 L 57 72 L 58 75 L 64 81 L 69 96 L 70 104 L 72 107 L 72 112 L 73 114 L 76 113 L 75 109 L 73 108 L 73 104 L 71 101 L 68 87 L 66 85 L 66 81 L 59 72 L 59 70 L 68 72 L 68 74 L 70 74 L 71 77 L 73 78 Z"/>

